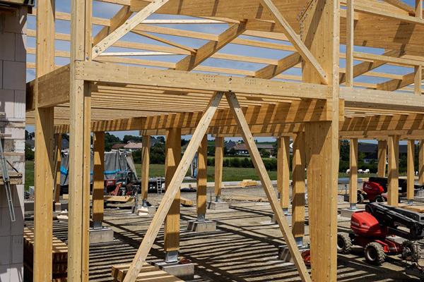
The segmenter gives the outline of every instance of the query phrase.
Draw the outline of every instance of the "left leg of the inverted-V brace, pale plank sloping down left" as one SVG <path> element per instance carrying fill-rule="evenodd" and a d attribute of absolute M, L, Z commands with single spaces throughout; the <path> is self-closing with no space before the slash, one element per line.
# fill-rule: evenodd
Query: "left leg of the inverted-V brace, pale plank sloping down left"
<path fill-rule="evenodd" d="M 206 108 L 204 118 L 202 118 L 199 126 L 196 128 L 192 140 L 190 140 L 189 145 L 187 146 L 186 151 L 184 152 L 184 156 L 182 160 L 179 162 L 175 175 L 172 177 L 170 181 L 170 185 L 168 186 L 165 195 L 163 196 L 162 201 L 158 207 L 155 216 L 153 216 L 153 220 L 151 225 L 149 226 L 146 235 L 144 235 L 143 240 L 141 241 L 141 245 L 139 250 L 136 253 L 133 261 L 131 262 L 131 266 L 128 270 L 128 273 L 125 276 L 124 282 L 133 282 L 136 280 L 137 275 L 140 273 L 143 262 L 146 260 L 148 252 L 150 251 L 153 242 L 158 235 L 160 230 L 160 226 L 165 220 L 165 216 L 170 210 L 172 206 L 172 202 L 174 202 L 175 196 L 177 192 L 179 192 L 179 187 L 184 179 L 187 170 L 189 169 L 190 164 L 192 163 L 192 159 L 196 150 L 199 148 L 201 140 L 204 138 L 206 133 L 206 129 L 208 128 L 209 123 L 211 123 L 211 119 L 218 109 L 218 105 L 220 103 L 223 94 L 218 92 L 211 99 L 211 103 L 208 104 Z"/>

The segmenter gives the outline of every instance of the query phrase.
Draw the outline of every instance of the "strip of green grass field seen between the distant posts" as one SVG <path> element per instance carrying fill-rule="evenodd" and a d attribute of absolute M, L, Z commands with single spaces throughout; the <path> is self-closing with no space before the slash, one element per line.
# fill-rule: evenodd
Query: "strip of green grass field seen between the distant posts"
<path fill-rule="evenodd" d="M 137 173 L 141 171 L 141 164 L 136 164 L 136 170 Z M 269 177 L 271 180 L 277 179 L 277 172 L 276 171 L 269 171 Z M 150 176 L 151 177 L 157 177 L 157 176 L 165 176 L 165 165 L 163 164 L 151 164 L 150 166 Z M 214 178 L 214 167 L 208 166 L 208 181 L 213 181 Z M 187 176 L 189 176 L 189 173 L 187 173 Z M 370 177 L 375 176 L 375 174 L 367 175 L 363 174 L 359 177 Z M 348 177 L 346 173 L 338 173 L 338 177 Z M 291 173 L 290 173 L 291 178 Z M 257 173 L 254 171 L 254 168 L 230 168 L 230 167 L 224 167 L 223 168 L 223 181 L 241 181 L 243 179 L 252 179 L 252 180 L 259 180 L 259 177 L 257 176 Z M 34 162 L 33 161 L 26 161 L 25 162 L 25 190 L 28 189 L 29 186 L 34 185 Z"/>

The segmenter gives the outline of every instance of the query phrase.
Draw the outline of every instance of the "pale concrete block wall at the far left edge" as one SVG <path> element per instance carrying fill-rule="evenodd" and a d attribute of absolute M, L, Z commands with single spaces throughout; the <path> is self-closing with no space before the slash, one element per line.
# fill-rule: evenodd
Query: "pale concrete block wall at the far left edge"
<path fill-rule="evenodd" d="M 0 11 L 0 132 L 6 158 L 25 173 L 26 11 Z M 12 185 L 16 221 L 11 222 L 0 186 L 0 281 L 23 281 L 23 185 Z"/>

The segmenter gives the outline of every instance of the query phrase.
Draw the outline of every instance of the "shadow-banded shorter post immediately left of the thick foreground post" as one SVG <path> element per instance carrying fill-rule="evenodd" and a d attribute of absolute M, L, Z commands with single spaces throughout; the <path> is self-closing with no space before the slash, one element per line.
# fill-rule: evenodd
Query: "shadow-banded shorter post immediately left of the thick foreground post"
<path fill-rule="evenodd" d="M 292 232 L 298 246 L 305 236 L 305 133 L 293 137 Z"/>

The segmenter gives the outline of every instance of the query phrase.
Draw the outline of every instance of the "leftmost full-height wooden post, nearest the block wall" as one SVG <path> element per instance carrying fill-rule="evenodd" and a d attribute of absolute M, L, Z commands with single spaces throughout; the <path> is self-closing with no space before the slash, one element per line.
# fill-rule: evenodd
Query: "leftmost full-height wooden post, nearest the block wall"
<path fill-rule="evenodd" d="M 33 281 L 52 280 L 54 109 L 38 107 L 38 78 L 54 71 L 54 0 L 37 2 Z"/>

